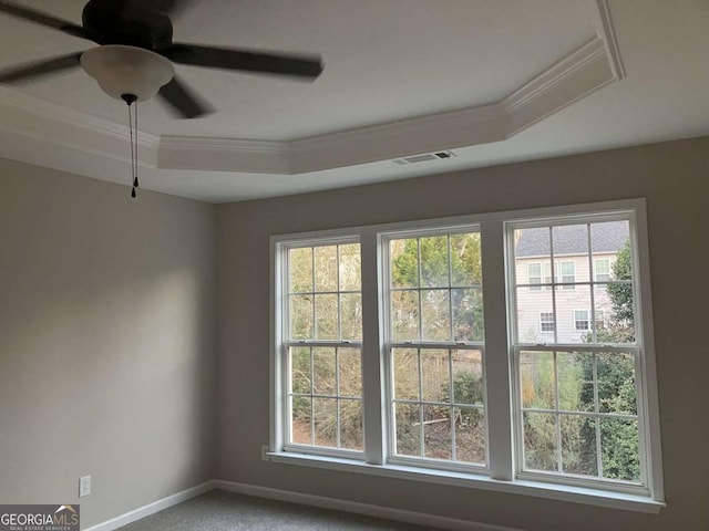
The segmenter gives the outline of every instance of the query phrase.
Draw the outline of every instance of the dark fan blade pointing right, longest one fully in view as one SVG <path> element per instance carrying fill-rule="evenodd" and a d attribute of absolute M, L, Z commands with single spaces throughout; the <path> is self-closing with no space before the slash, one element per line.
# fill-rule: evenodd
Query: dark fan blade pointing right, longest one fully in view
<path fill-rule="evenodd" d="M 322 60 L 319 55 L 276 54 L 179 43 L 160 50 L 158 53 L 175 63 L 212 69 L 263 72 L 307 79 L 315 79 L 322 72 Z"/>

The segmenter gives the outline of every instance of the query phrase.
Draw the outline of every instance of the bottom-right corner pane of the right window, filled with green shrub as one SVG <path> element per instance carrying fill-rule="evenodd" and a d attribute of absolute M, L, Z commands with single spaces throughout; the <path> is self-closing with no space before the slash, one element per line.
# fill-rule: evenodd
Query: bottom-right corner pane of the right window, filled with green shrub
<path fill-rule="evenodd" d="M 603 477 L 625 481 L 640 480 L 638 421 L 600 418 Z"/>

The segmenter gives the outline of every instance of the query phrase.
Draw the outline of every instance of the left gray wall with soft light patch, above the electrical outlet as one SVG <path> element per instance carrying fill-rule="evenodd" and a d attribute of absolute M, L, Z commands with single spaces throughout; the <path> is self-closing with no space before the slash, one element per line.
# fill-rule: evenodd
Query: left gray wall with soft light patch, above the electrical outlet
<path fill-rule="evenodd" d="M 0 503 L 83 528 L 215 475 L 215 207 L 129 194 L 0 159 Z"/>

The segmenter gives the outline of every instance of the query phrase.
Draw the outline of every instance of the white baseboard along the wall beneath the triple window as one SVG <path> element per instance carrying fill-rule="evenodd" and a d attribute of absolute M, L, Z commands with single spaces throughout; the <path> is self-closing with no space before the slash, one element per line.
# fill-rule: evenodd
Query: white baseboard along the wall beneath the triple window
<path fill-rule="evenodd" d="M 400 522 L 428 525 L 439 529 L 450 529 L 452 531 L 522 531 L 520 529 L 505 528 L 503 525 L 492 525 L 489 523 L 471 522 L 470 520 L 456 520 L 454 518 L 439 517 L 423 512 L 405 511 L 392 509 L 390 507 L 372 506 L 356 501 L 341 500 L 337 498 L 326 498 L 322 496 L 304 494 L 290 490 L 271 489 L 268 487 L 257 487 L 255 485 L 235 483 L 220 479 L 212 481 L 213 488 L 242 494 L 269 498 L 271 500 L 289 501 L 304 506 L 319 507 L 321 509 L 333 509 L 336 511 L 353 512 L 367 517 L 386 518 Z"/>

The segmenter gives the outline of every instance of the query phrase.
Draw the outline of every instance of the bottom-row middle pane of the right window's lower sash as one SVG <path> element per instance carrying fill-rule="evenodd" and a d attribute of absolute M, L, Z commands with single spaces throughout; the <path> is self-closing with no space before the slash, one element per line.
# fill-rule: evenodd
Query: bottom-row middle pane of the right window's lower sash
<path fill-rule="evenodd" d="M 579 415 L 562 415 L 562 467 L 565 473 L 598 476 L 596 420 Z"/>

